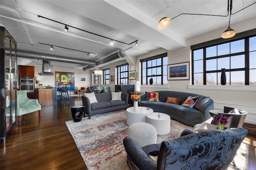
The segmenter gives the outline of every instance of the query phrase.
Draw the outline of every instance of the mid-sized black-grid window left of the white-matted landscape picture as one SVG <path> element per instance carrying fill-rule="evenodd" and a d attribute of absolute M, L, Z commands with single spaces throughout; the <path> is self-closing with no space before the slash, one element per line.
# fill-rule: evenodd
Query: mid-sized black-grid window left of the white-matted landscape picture
<path fill-rule="evenodd" d="M 167 85 L 167 53 L 140 60 L 143 85 Z"/>

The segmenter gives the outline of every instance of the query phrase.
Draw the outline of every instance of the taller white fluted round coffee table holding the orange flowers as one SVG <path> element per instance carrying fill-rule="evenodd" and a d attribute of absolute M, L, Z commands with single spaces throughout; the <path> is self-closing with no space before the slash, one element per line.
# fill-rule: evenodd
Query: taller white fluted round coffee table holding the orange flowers
<path fill-rule="evenodd" d="M 126 109 L 126 124 L 128 126 L 137 122 L 146 122 L 146 115 L 152 115 L 153 109 L 148 107 L 138 107 L 137 111 L 134 111 L 133 107 Z"/>

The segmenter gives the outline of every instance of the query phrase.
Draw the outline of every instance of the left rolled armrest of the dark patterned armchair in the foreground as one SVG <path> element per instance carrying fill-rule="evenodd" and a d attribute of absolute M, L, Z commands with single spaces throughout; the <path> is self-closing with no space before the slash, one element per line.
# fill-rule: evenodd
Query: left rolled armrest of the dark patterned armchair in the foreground
<path fill-rule="evenodd" d="M 142 150 L 134 138 L 124 138 L 124 148 L 131 161 L 140 170 L 157 170 L 157 164 Z"/>

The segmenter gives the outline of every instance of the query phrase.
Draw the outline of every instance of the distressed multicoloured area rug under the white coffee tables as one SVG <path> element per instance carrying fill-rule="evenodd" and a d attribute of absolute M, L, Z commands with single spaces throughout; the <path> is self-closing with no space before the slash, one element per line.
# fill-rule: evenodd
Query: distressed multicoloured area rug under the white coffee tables
<path fill-rule="evenodd" d="M 127 136 L 126 110 L 82 118 L 80 122 L 66 121 L 76 146 L 84 159 L 88 170 L 126 170 L 126 151 L 123 139 Z M 185 128 L 193 129 L 171 120 L 170 133 L 158 135 L 157 143 L 179 137 Z M 248 145 L 247 145 L 248 146 Z M 242 147 L 242 145 L 241 145 Z M 240 147 L 240 148 L 241 148 Z M 236 166 L 230 165 L 228 170 L 246 170 L 248 147 L 244 144 L 240 149 Z M 242 160 L 242 161 L 241 161 Z M 242 163 L 244 162 L 244 163 Z"/>

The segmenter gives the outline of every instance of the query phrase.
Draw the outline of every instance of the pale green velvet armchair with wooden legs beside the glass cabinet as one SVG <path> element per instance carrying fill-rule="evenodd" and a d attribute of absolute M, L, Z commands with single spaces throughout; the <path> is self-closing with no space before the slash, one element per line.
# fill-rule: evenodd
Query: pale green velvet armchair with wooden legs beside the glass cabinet
<path fill-rule="evenodd" d="M 28 99 L 27 91 L 17 91 L 17 117 L 18 125 L 21 126 L 21 116 L 27 113 L 38 111 L 38 117 L 41 118 L 41 105 L 38 103 L 38 99 Z"/>

